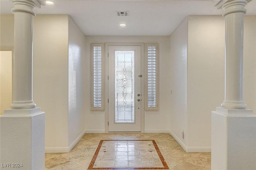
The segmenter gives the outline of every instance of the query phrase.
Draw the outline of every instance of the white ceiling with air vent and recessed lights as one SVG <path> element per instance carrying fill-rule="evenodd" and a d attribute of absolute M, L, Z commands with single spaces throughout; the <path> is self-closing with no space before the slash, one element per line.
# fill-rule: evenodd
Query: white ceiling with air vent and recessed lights
<path fill-rule="evenodd" d="M 222 15 L 212 0 L 53 0 L 36 14 L 68 14 L 85 35 L 169 36 L 188 15 Z M 0 13 L 11 14 L 11 0 L 0 0 Z M 256 0 L 246 6 L 256 15 Z M 129 11 L 117 16 L 116 11 Z M 121 28 L 119 24 L 125 23 Z"/>

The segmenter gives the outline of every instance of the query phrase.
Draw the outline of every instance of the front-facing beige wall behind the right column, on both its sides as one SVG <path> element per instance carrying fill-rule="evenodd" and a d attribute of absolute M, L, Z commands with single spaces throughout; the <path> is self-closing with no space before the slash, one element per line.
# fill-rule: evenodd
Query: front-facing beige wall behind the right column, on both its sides
<path fill-rule="evenodd" d="M 211 111 L 224 101 L 225 20 L 189 16 L 188 147 L 211 146 Z M 244 17 L 244 101 L 256 106 L 256 16 Z"/>

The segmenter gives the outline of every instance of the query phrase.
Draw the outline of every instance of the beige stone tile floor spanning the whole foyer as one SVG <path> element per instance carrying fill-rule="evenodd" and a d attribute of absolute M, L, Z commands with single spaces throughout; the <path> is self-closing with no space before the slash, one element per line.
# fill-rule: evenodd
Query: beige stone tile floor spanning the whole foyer
<path fill-rule="evenodd" d="M 127 167 L 130 166 L 130 169 L 143 169 L 143 167 L 150 167 L 146 162 L 151 161 L 152 158 L 145 157 L 145 155 L 138 155 L 139 157 L 136 157 L 136 163 L 137 167 L 133 165 L 130 162 L 134 162 L 132 159 L 135 159 L 134 157 L 128 157 L 128 160 L 116 160 L 116 159 L 122 159 L 124 157 L 115 157 L 110 154 L 110 156 L 104 155 L 107 152 L 107 142 L 110 140 L 116 140 L 116 147 L 108 147 L 108 150 L 110 149 L 116 149 L 115 154 L 119 152 L 118 154 L 127 154 L 129 153 L 128 148 L 128 141 L 134 141 L 142 144 L 142 141 L 139 140 L 147 140 L 146 142 L 151 145 L 152 140 L 154 140 L 157 144 L 155 147 L 156 150 L 159 149 L 161 155 L 163 156 L 165 162 L 168 165 L 168 168 L 170 170 L 210 170 L 211 168 L 211 154 L 210 153 L 189 153 L 185 152 L 183 148 L 176 142 L 176 140 L 167 133 L 104 133 L 104 134 L 85 134 L 83 138 L 74 146 L 74 148 L 69 153 L 46 153 L 45 154 L 45 169 L 46 170 L 87 170 L 90 163 L 90 168 L 98 168 L 98 169 L 106 169 L 111 168 L 110 166 L 107 166 L 106 163 L 109 162 L 103 162 L 103 161 L 110 161 L 110 164 L 112 168 L 120 168 L 121 164 L 127 164 Z M 99 147 L 100 142 L 102 141 L 102 145 Z M 118 149 L 118 141 L 126 141 L 127 142 L 127 150 L 122 150 L 123 153 L 121 153 L 121 150 Z M 105 142 L 105 143 L 104 143 Z M 110 142 L 113 143 L 114 141 Z M 122 142 L 120 142 L 121 144 Z M 106 146 L 106 147 L 105 147 Z M 124 145 L 119 145 L 124 146 Z M 119 148 L 126 148 L 119 147 Z M 145 149 L 146 145 L 141 145 L 138 150 Z M 98 151 L 97 151 L 98 148 Z M 104 150 L 105 149 L 105 150 Z M 154 147 L 152 147 L 154 149 Z M 109 150 L 109 151 L 110 151 Z M 154 152 L 154 150 L 152 150 Z M 98 155 L 95 155 L 95 152 L 98 152 Z M 146 154 L 146 152 L 145 152 Z M 156 155 L 156 154 L 155 154 Z M 105 156 L 105 157 L 104 157 Z M 159 156 L 159 155 L 158 155 Z M 160 156 L 161 157 L 161 156 Z M 104 158 L 104 160 L 103 160 Z M 154 157 L 153 157 L 154 158 Z M 150 160 L 148 160 L 150 159 Z M 112 162 L 111 162 L 112 161 Z M 113 162 L 114 161 L 114 162 Z M 119 162 L 118 162 L 119 161 Z M 120 162 L 123 161 L 123 162 Z M 144 165 L 143 166 L 143 161 Z M 103 164 L 102 164 L 103 162 Z M 164 167 L 163 163 L 160 164 L 159 158 L 154 158 L 153 165 L 150 169 L 158 169 Z M 156 163 L 157 162 L 157 163 Z M 113 164 L 114 163 L 114 164 Z M 116 165 L 115 165 L 116 163 Z M 158 164 L 158 165 L 156 165 Z M 146 166 L 147 165 L 147 166 Z M 125 169 L 125 168 L 124 168 Z"/>

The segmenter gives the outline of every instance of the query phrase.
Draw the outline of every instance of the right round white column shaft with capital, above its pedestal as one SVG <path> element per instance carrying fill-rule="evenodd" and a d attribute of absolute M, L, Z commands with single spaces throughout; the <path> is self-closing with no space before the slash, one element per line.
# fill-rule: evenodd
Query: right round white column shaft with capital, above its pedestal
<path fill-rule="evenodd" d="M 244 7 L 247 0 L 227 1 L 222 5 L 225 11 L 225 100 L 222 107 L 246 109 L 243 101 L 243 43 Z"/>

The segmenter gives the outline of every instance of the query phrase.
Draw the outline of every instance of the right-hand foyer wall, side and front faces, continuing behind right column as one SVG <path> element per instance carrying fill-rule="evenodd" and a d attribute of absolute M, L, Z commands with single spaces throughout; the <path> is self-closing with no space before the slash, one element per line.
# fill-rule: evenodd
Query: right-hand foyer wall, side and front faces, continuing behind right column
<path fill-rule="evenodd" d="M 186 151 L 210 151 L 211 147 L 211 111 L 220 107 L 224 101 L 224 68 L 225 68 L 225 20 L 222 16 L 188 16 L 170 36 L 171 56 L 171 89 L 182 79 L 185 80 L 187 99 L 182 104 L 177 103 L 176 89 L 171 97 L 171 126 L 173 136 L 184 146 Z M 181 51 L 187 34 L 186 54 Z M 256 106 L 256 16 L 244 18 L 244 101 L 248 109 L 255 111 Z M 185 36 L 185 37 L 184 37 Z M 184 58 L 185 61 L 180 61 Z M 180 60 L 178 60 L 178 59 Z M 179 72 L 181 63 L 187 62 L 187 75 Z M 186 68 L 183 65 L 183 68 Z M 178 81 L 178 82 L 177 82 Z M 181 88 L 181 87 L 180 87 Z M 179 92 L 182 94 L 181 92 Z M 180 95 L 177 94 L 177 95 Z M 187 113 L 183 114 L 184 107 Z M 176 110 L 182 110 L 179 114 Z M 182 124 L 187 120 L 187 125 Z M 183 121 L 186 124 L 186 121 Z M 180 125 L 181 123 L 181 125 Z M 186 128 L 185 140 L 181 138 L 183 128 Z"/>

